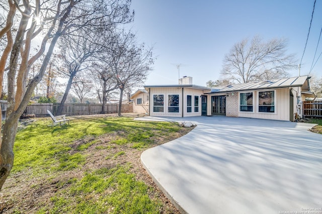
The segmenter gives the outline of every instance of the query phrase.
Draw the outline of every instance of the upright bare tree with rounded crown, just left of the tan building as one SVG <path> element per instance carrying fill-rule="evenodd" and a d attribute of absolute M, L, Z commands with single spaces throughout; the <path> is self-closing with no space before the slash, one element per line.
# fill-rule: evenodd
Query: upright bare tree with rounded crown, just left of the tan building
<path fill-rule="evenodd" d="M 151 70 L 152 48 L 137 44 L 135 34 L 117 33 L 109 51 L 107 63 L 120 90 L 118 115 L 121 116 L 124 90 L 143 83 Z"/>

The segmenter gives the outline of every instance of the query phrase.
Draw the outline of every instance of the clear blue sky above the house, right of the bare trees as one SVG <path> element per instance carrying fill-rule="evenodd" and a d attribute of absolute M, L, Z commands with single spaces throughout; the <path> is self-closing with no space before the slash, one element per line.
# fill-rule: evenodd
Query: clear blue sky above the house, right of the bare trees
<path fill-rule="evenodd" d="M 180 77 L 193 77 L 193 84 L 215 81 L 232 46 L 256 35 L 265 41 L 288 39 L 288 53 L 295 54 L 299 64 L 313 4 L 314 0 L 132 0 L 132 30 L 140 42 L 154 46 L 157 58 L 145 84 L 178 84 L 177 64 L 182 64 Z M 322 1 L 316 0 L 301 75 L 310 70 L 321 28 Z M 321 52 L 322 38 L 315 59 Z M 297 76 L 298 70 L 289 73 Z M 322 56 L 311 74 L 322 75 Z"/>

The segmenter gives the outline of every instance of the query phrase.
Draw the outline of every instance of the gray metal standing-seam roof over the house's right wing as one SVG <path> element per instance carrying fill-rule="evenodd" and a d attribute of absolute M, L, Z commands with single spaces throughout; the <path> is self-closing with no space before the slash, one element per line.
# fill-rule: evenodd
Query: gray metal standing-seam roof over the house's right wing
<path fill-rule="evenodd" d="M 211 93 L 297 87 L 302 86 L 307 79 L 309 79 L 308 76 L 300 76 L 252 83 L 241 83 L 237 85 L 228 85 L 223 88 L 212 89 Z"/>

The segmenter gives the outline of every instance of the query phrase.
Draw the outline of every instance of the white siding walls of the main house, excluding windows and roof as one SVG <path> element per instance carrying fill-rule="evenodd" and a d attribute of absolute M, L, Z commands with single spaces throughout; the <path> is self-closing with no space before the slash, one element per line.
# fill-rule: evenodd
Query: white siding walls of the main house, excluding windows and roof
<path fill-rule="evenodd" d="M 296 94 L 300 94 L 300 87 L 294 88 L 297 93 L 294 93 L 294 112 L 296 112 L 297 98 Z M 181 87 L 160 87 L 160 88 L 150 88 L 150 115 L 151 116 L 169 116 L 169 117 L 189 117 L 189 116 L 201 116 L 202 113 L 202 104 L 201 104 L 201 95 L 207 93 L 207 91 L 193 89 L 193 88 L 184 88 L 184 93 L 182 95 Z M 273 90 L 273 89 L 272 89 Z M 274 89 L 275 91 L 275 112 L 266 113 L 259 112 L 259 91 L 272 91 L 272 90 L 254 90 L 252 91 L 254 105 L 253 112 L 240 112 L 239 111 L 239 93 L 243 92 L 234 92 L 229 94 L 229 97 L 226 98 L 226 115 L 227 116 L 238 116 L 238 117 L 249 117 L 249 118 L 261 118 L 261 119 L 271 119 L 271 120 L 290 120 L 290 95 L 289 88 Z M 250 92 L 250 91 L 245 91 Z M 168 95 L 179 95 L 179 112 L 168 112 Z M 207 115 L 211 115 L 211 96 L 225 95 L 226 93 L 218 94 L 208 94 L 207 95 Z M 148 94 L 147 94 L 148 95 Z M 164 95 L 164 112 L 153 112 L 153 95 Z M 187 95 L 192 97 L 192 112 L 187 112 Z M 194 112 L 194 96 L 199 98 L 199 111 Z M 135 100 L 136 101 L 136 100 Z M 143 101 L 142 101 L 143 102 Z M 229 105 L 229 106 L 228 106 Z M 135 106 L 135 105 L 134 105 Z"/>

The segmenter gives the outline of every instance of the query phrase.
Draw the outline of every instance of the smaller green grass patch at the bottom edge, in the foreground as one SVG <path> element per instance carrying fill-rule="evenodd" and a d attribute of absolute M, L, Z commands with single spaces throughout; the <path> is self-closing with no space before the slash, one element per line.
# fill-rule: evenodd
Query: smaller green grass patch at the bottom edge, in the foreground
<path fill-rule="evenodd" d="M 161 204 L 151 201 L 147 185 L 137 181 L 129 167 L 101 168 L 71 181 L 66 194 L 51 198 L 55 206 L 49 213 L 157 213 Z"/>

